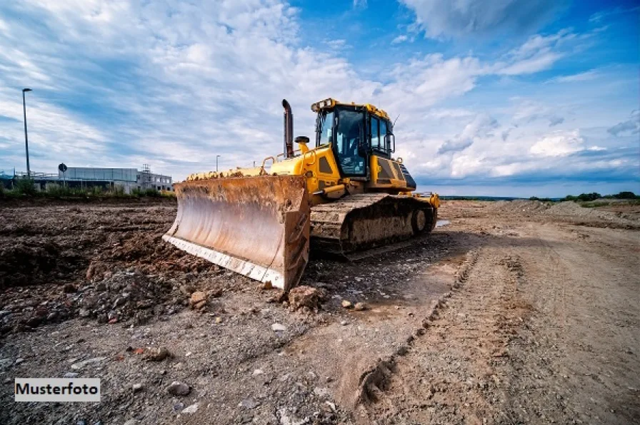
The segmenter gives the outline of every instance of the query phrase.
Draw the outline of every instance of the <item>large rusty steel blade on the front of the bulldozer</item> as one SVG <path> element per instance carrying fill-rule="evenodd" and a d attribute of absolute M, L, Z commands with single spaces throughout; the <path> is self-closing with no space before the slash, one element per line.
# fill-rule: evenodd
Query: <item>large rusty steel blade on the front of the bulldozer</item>
<path fill-rule="evenodd" d="M 212 178 L 174 187 L 178 213 L 166 242 L 285 291 L 298 284 L 309 261 L 304 177 Z"/>

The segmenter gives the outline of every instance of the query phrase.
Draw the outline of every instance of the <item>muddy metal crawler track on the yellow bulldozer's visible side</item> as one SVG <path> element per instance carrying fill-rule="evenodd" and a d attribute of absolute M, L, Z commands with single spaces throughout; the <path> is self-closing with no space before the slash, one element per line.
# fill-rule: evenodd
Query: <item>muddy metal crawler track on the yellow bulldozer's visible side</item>
<path fill-rule="evenodd" d="M 424 222 L 416 220 L 420 211 Z M 406 247 L 408 244 L 401 241 L 430 232 L 435 221 L 433 208 L 424 201 L 386 193 L 349 195 L 311 208 L 311 247 L 316 255 L 355 261 L 379 250 Z M 372 249 L 371 253 L 358 252 Z"/>

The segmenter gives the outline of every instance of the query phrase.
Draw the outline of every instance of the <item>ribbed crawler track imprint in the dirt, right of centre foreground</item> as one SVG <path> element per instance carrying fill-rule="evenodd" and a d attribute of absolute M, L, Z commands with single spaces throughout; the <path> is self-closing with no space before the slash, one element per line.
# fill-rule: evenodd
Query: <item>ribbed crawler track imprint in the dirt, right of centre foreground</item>
<path fill-rule="evenodd" d="M 497 248 L 465 262 L 461 287 L 426 319 L 426 332 L 381 362 L 382 378 L 361 404 L 363 423 L 509 421 L 501 413 L 505 377 L 496 367 L 508 361 L 511 335 L 529 313 L 516 296 L 523 278 L 519 257 Z"/>

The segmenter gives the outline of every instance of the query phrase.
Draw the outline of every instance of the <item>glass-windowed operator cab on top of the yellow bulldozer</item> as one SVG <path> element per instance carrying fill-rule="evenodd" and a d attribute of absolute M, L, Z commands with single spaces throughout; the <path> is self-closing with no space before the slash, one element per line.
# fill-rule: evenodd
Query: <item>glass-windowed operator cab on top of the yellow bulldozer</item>
<path fill-rule="evenodd" d="M 391 158 L 394 135 L 384 111 L 333 99 L 314 103 L 311 110 L 318 113 L 316 147 L 331 143 L 341 175 L 366 177 L 370 155 Z"/>

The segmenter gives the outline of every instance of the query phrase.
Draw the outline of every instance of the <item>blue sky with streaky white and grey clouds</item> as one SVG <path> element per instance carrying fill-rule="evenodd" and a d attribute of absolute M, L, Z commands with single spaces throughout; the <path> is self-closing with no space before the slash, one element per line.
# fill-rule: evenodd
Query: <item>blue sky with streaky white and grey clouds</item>
<path fill-rule="evenodd" d="M 311 103 L 397 118 L 441 195 L 640 193 L 640 6 L 568 0 L 0 2 L 0 170 L 174 181 L 314 134 Z"/>

